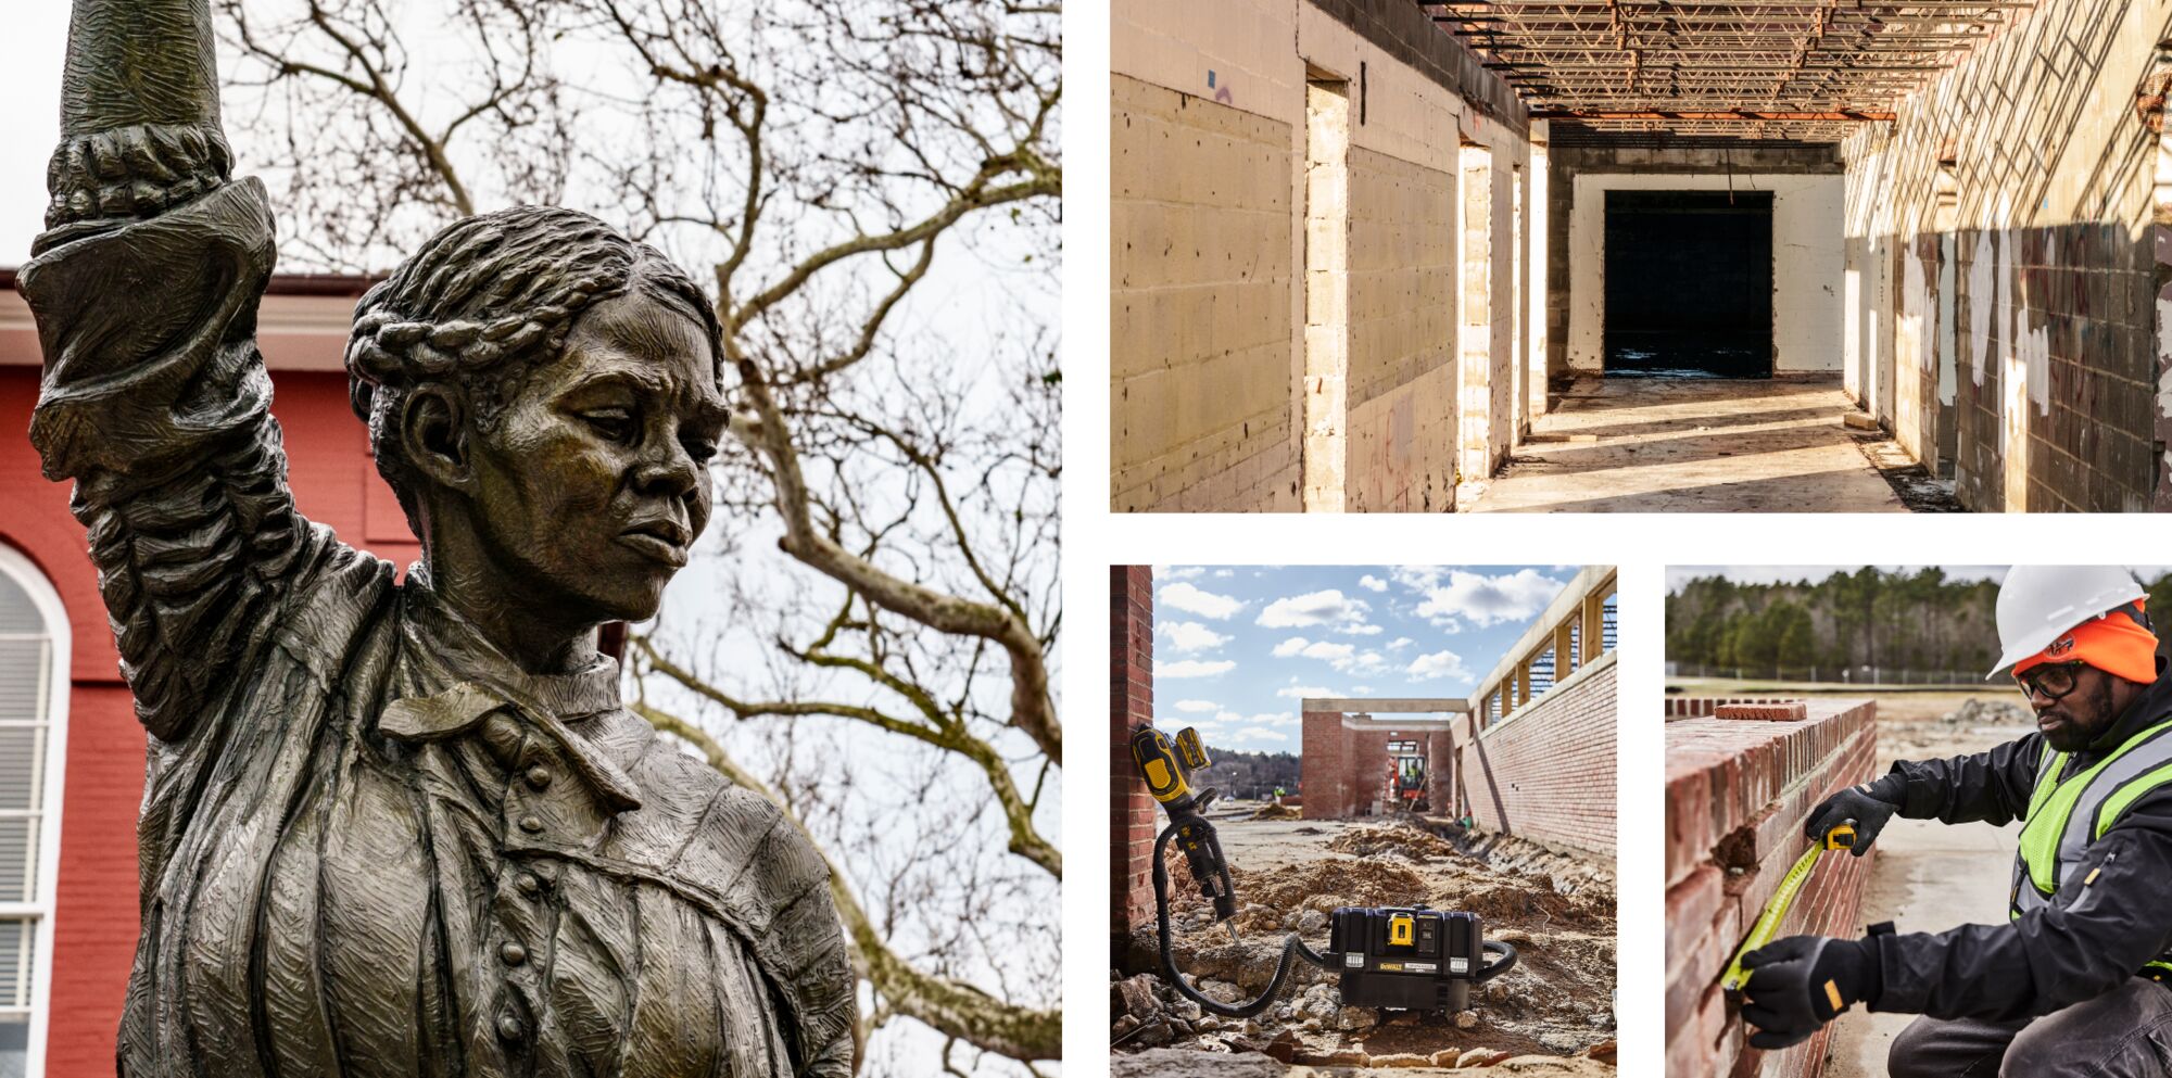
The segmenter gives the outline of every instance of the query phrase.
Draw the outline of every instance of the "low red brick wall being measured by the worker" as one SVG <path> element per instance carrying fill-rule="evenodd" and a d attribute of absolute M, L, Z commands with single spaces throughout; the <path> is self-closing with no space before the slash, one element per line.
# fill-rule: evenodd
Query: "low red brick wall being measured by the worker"
<path fill-rule="evenodd" d="M 1672 702 L 1670 702 L 1672 704 Z M 1714 702 L 1692 704 L 1712 711 Z M 1831 1032 L 1783 1052 L 1744 1045 L 1720 974 L 1788 867 L 1803 819 L 1872 778 L 1877 704 L 1809 700 L 1801 722 L 1679 717 L 1666 724 L 1666 1074 L 1816 1078 Z M 1870 854 L 1874 856 L 1874 854 Z M 1824 854 L 1779 935 L 1861 935 L 1870 856 Z"/>

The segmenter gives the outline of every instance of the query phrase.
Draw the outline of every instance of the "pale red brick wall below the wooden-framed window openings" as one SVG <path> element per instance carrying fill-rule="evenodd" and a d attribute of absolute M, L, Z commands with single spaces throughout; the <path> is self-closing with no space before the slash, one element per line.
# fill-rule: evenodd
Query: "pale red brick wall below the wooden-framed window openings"
<path fill-rule="evenodd" d="M 1455 772 L 1486 830 L 1614 852 L 1614 654 L 1486 737 L 1457 737 Z"/>

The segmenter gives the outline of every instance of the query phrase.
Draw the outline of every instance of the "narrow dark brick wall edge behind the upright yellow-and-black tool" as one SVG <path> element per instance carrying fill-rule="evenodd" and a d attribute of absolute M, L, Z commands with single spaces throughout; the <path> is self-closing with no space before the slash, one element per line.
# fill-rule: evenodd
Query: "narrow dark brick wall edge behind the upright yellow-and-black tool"
<path fill-rule="evenodd" d="M 1132 763 L 1132 730 L 1153 724 L 1153 569 L 1108 569 L 1110 935 L 1119 954 L 1153 922 L 1153 795 Z"/>

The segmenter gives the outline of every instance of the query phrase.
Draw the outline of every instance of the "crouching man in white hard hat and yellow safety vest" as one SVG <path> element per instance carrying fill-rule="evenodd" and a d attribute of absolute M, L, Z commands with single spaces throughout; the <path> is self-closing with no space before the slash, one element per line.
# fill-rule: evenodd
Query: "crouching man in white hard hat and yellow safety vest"
<path fill-rule="evenodd" d="M 1894 815 L 2024 819 L 2007 924 L 1866 939 L 1788 937 L 1744 956 L 1753 1048 L 1805 1041 L 1851 1004 L 1918 1017 L 1887 1052 L 1914 1076 L 2172 1074 L 2172 678 L 2126 569 L 2013 567 L 1998 667 L 2037 732 L 1974 756 L 1896 763 L 1827 798 L 1861 856 Z"/>

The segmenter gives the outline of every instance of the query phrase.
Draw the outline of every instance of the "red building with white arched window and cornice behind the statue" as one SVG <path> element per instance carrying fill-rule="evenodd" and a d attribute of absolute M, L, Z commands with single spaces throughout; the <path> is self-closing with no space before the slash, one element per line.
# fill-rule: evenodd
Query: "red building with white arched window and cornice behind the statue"
<path fill-rule="evenodd" d="M 272 280 L 258 339 L 304 515 L 406 565 L 419 546 L 348 411 L 361 278 Z M 37 326 L 0 272 L 0 1074 L 113 1074 L 137 939 L 143 728 L 70 485 L 30 448 Z"/>

